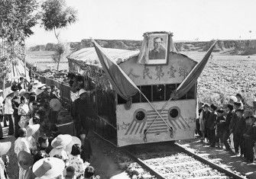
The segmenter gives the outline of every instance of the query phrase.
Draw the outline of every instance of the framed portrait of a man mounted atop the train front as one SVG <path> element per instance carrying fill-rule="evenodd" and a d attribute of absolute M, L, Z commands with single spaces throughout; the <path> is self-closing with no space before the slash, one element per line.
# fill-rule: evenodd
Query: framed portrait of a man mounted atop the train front
<path fill-rule="evenodd" d="M 147 41 L 147 65 L 166 65 L 168 62 L 169 34 L 149 34 Z"/>

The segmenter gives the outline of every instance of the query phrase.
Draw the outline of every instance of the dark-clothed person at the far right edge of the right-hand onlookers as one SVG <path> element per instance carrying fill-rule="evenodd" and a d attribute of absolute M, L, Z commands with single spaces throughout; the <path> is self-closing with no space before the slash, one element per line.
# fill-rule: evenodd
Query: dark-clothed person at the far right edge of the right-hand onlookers
<path fill-rule="evenodd" d="M 248 117 L 247 129 L 244 136 L 245 141 L 245 159 L 248 163 L 254 162 L 254 145 L 256 141 L 256 116 Z"/>

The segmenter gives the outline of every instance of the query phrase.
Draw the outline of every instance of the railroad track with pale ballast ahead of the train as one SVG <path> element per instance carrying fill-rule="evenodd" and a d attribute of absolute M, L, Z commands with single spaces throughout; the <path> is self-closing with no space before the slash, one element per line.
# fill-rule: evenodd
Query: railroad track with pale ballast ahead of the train
<path fill-rule="evenodd" d="M 172 142 L 129 145 L 118 149 L 133 159 L 129 168 L 143 168 L 153 176 L 151 178 L 245 178 Z"/>

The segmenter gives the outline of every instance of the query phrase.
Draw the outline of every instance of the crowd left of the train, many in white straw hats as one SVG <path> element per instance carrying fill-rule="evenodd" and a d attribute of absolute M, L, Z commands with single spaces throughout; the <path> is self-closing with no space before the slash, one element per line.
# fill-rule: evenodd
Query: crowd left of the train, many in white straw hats
<path fill-rule="evenodd" d="M 88 130 L 80 128 L 76 136 L 58 131 L 58 100 L 60 91 L 39 82 L 38 76 L 31 77 L 30 82 L 21 77 L 8 91 L 0 91 L 1 118 L 8 126 L 8 135 L 16 138 L 19 179 L 99 178 L 89 164 L 92 147 Z M 1 123 L 0 139 L 4 139 Z M 6 170 L 9 149 L 11 142 L 0 142 L 1 179 L 15 172 Z"/>

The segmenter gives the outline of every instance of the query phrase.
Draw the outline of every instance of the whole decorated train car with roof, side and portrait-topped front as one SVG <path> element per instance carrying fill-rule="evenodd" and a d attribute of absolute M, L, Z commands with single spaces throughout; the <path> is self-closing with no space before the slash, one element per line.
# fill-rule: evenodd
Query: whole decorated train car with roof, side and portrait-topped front
<path fill-rule="evenodd" d="M 177 53 L 172 36 L 167 32 L 146 33 L 137 51 L 101 49 L 97 45 L 68 56 L 70 72 L 96 84 L 89 89 L 96 91 L 89 98 L 96 110 L 91 119 L 96 133 L 117 146 L 194 137 L 196 82 L 190 82 L 192 85 L 180 97 L 173 97 L 173 91 L 184 85 L 197 62 Z M 113 68 L 102 64 L 102 58 L 109 58 L 127 82 L 136 85 L 138 92 L 130 99 L 117 90 L 116 86 L 125 82 L 112 79 L 113 74 L 106 70 Z"/>

